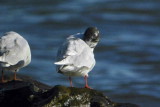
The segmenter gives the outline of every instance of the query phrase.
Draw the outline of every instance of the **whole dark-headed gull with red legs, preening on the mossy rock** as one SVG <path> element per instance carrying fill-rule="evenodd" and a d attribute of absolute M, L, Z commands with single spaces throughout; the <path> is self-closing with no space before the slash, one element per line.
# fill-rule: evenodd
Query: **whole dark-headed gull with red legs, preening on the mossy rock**
<path fill-rule="evenodd" d="M 83 76 L 85 88 L 90 88 L 87 78 L 96 63 L 93 51 L 98 42 L 99 30 L 88 27 L 84 33 L 70 35 L 58 49 L 56 71 L 69 77 L 71 87 L 72 76 Z"/>

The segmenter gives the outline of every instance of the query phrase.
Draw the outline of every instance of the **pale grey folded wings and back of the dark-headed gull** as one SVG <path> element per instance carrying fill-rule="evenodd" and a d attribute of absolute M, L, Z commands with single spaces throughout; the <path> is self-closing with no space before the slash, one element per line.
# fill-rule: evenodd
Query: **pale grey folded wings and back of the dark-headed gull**
<path fill-rule="evenodd" d="M 81 39 L 69 37 L 59 48 L 57 53 L 57 65 L 74 65 L 76 67 L 91 68 L 95 64 L 94 54 L 91 48 Z"/>

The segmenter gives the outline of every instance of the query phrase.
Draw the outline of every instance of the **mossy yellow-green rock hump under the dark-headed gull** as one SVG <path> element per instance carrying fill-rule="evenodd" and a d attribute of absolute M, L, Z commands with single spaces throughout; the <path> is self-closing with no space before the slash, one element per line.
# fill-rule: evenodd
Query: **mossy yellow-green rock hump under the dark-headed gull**
<path fill-rule="evenodd" d="M 86 88 L 74 88 L 74 87 L 64 87 L 64 86 L 55 86 L 51 90 L 48 91 L 48 95 L 52 97 L 48 99 L 50 101 L 44 107 L 52 107 L 52 106 L 82 106 L 89 107 L 92 105 L 93 107 L 112 107 L 111 101 L 105 97 L 102 93 L 96 90 L 90 90 Z M 46 99 L 48 96 L 45 96 Z M 43 97 L 44 98 L 44 97 Z M 41 102 L 41 101 L 38 101 Z"/>

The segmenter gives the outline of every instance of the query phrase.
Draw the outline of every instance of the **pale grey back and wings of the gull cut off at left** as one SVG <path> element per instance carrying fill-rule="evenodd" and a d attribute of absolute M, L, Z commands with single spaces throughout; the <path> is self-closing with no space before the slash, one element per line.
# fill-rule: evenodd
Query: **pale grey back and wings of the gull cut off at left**
<path fill-rule="evenodd" d="M 24 61 L 26 66 L 31 61 L 28 42 L 15 32 L 9 32 L 0 39 L 0 53 L 0 61 L 9 65 Z"/>

